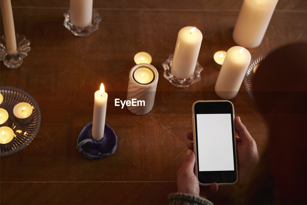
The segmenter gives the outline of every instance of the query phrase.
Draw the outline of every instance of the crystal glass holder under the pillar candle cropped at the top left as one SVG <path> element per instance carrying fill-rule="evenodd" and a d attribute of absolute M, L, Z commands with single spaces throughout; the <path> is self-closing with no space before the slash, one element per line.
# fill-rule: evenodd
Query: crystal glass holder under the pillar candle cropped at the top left
<path fill-rule="evenodd" d="M 98 23 L 102 20 L 97 9 L 93 9 L 92 24 L 87 27 L 78 27 L 70 22 L 69 10 L 64 13 L 63 25 L 75 36 L 87 36 L 98 29 Z"/>

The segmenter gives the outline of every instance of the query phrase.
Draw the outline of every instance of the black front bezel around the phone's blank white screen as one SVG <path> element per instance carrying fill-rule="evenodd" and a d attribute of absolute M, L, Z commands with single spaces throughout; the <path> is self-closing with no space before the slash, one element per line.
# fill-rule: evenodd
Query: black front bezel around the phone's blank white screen
<path fill-rule="evenodd" d="M 198 171 L 198 136 L 197 136 L 197 116 L 196 114 L 231 114 L 231 129 L 232 129 L 232 150 L 234 160 L 233 171 Z M 196 138 L 196 158 L 197 158 L 197 177 L 198 181 L 203 184 L 211 183 L 235 183 L 237 180 L 237 166 L 236 166 L 236 149 L 235 149 L 235 132 L 234 132 L 234 118 L 233 107 L 230 102 L 197 102 L 194 105 L 194 124 L 195 124 L 195 138 Z"/>

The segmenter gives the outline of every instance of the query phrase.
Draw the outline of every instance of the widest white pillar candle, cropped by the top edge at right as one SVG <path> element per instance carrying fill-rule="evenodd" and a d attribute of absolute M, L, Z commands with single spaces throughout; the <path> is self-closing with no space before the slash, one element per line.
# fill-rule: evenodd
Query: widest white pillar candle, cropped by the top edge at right
<path fill-rule="evenodd" d="M 278 0 L 244 0 L 233 31 L 233 40 L 245 48 L 261 44 Z"/>

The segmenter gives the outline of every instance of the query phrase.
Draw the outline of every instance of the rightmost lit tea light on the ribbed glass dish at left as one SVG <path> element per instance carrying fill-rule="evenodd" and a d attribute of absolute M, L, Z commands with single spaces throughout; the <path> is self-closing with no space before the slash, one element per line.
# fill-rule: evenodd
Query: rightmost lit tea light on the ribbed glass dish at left
<path fill-rule="evenodd" d="M 20 124 L 27 124 L 32 120 L 33 108 L 29 103 L 21 102 L 13 108 L 15 119 Z"/>

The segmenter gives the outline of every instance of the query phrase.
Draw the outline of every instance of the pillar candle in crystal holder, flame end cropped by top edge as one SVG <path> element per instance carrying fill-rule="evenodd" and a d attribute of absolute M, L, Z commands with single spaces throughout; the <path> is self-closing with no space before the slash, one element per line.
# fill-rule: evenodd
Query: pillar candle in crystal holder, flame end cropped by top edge
<path fill-rule="evenodd" d="M 70 0 L 69 6 L 69 18 L 74 26 L 91 26 L 93 0 Z"/>

